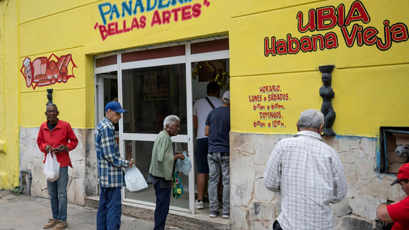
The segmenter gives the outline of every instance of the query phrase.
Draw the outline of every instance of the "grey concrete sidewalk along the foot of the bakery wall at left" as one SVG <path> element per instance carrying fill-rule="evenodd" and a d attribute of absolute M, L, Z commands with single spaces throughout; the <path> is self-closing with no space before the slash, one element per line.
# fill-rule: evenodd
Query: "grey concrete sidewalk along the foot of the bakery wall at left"
<path fill-rule="evenodd" d="M 65 229 L 96 229 L 97 210 L 68 204 Z M 8 191 L 0 191 L 0 230 L 43 230 L 43 225 L 51 218 L 50 201 L 33 196 L 14 196 Z M 154 223 L 122 215 L 121 230 L 152 230 Z M 182 230 L 178 228 L 179 230 Z"/>

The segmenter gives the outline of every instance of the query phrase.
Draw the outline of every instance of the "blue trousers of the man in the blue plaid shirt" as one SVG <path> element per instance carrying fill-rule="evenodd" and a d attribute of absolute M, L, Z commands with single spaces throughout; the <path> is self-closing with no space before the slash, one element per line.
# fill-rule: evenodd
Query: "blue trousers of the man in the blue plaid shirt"
<path fill-rule="evenodd" d="M 101 187 L 97 212 L 97 230 L 121 228 L 121 188 Z"/>

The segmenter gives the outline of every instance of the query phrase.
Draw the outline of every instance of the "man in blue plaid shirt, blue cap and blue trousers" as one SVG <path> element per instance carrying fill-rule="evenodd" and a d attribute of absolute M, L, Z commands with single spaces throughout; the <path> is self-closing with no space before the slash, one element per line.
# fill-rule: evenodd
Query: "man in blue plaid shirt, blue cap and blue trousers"
<path fill-rule="evenodd" d="M 121 227 L 121 187 L 125 186 L 123 167 L 132 163 L 122 159 L 115 140 L 114 124 L 121 119 L 121 104 L 111 101 L 105 106 L 106 116 L 95 130 L 95 150 L 98 159 L 99 206 L 97 212 L 97 230 L 114 230 Z"/>

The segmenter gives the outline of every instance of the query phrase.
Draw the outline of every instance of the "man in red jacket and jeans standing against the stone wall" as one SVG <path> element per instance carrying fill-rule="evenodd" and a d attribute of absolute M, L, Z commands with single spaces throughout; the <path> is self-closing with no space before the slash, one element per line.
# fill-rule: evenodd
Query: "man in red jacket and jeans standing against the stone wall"
<path fill-rule="evenodd" d="M 44 228 L 53 228 L 61 230 L 68 226 L 67 224 L 67 183 L 68 166 L 72 167 L 68 151 L 75 149 L 78 144 L 74 131 L 68 122 L 58 120 L 57 106 L 48 104 L 45 115 L 47 122 L 40 126 L 38 132 L 37 144 L 40 150 L 47 154 L 52 153 L 57 157 L 60 163 L 60 176 L 54 182 L 47 180 L 47 190 L 50 195 L 52 219 L 44 225 Z M 68 142 L 70 141 L 70 142 Z"/>

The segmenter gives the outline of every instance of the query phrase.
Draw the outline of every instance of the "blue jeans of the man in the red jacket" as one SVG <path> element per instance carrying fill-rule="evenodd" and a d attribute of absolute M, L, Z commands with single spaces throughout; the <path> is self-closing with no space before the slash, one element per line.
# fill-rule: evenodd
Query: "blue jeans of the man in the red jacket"
<path fill-rule="evenodd" d="M 60 176 L 54 182 L 47 180 L 50 195 L 52 218 L 67 221 L 67 184 L 68 167 L 60 167 Z"/>

